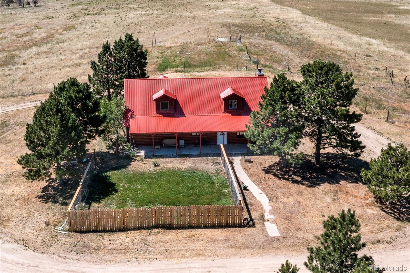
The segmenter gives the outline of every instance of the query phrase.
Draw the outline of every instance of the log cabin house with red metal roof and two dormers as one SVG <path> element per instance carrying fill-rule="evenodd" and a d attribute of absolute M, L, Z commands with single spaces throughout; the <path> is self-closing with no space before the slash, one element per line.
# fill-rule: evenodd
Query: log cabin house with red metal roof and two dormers
<path fill-rule="evenodd" d="M 128 79 L 125 104 L 132 117 L 127 141 L 133 146 L 246 144 L 245 124 L 268 82 L 255 77 Z"/>

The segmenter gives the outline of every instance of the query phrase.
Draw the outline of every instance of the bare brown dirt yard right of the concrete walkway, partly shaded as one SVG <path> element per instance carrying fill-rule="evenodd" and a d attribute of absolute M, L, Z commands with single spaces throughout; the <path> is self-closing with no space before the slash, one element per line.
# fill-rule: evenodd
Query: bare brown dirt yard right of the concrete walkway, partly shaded
<path fill-rule="evenodd" d="M 404 236 L 408 223 L 397 221 L 381 209 L 360 182 L 360 168 L 333 165 L 330 159 L 324 170 L 306 162 L 284 173 L 276 157 L 253 156 L 252 161 L 241 164 L 268 196 L 281 237 L 293 246 L 315 245 L 323 231 L 323 220 L 348 208 L 356 210 L 367 249 L 383 247 Z"/>

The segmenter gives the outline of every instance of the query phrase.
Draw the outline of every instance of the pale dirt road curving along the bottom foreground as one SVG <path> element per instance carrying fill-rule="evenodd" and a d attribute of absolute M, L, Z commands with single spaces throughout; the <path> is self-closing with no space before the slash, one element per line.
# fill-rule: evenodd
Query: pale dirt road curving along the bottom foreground
<path fill-rule="evenodd" d="M 407 240 L 408 241 L 408 240 Z M 400 242 L 388 248 L 369 252 L 380 266 L 400 266 L 410 268 L 408 242 Z M 57 256 L 42 255 L 25 250 L 23 246 L 1 243 L 0 268 L 2 272 L 275 272 L 280 264 L 289 259 L 301 267 L 299 273 L 309 272 L 304 268 L 306 255 L 262 256 L 251 258 L 230 258 L 215 260 L 180 260 L 153 262 L 118 262 L 114 264 L 91 264 Z"/>

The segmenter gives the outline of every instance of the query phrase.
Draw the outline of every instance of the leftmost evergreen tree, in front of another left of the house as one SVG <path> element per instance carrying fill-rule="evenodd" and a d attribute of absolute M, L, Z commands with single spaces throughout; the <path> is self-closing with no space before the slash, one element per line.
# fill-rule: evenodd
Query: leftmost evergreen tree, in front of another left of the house
<path fill-rule="evenodd" d="M 44 180 L 54 173 L 62 185 L 63 177 L 73 171 L 63 163 L 85 153 L 81 124 L 62 100 L 51 95 L 36 108 L 24 140 L 31 152 L 22 155 L 17 163 L 26 169 L 23 176 L 27 180 Z"/>

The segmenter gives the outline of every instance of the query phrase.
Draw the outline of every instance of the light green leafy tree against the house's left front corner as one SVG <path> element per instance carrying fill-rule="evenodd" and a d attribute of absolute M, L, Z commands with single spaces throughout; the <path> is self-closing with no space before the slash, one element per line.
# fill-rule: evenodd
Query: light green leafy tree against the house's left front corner
<path fill-rule="evenodd" d="M 118 155 L 118 145 L 124 143 L 127 137 L 124 130 L 124 120 L 128 109 L 121 97 L 115 97 L 112 100 L 103 98 L 101 101 L 100 115 L 104 119 L 102 139 L 108 149 L 115 147 L 116 155 Z M 121 137 L 121 132 L 124 137 Z"/>

